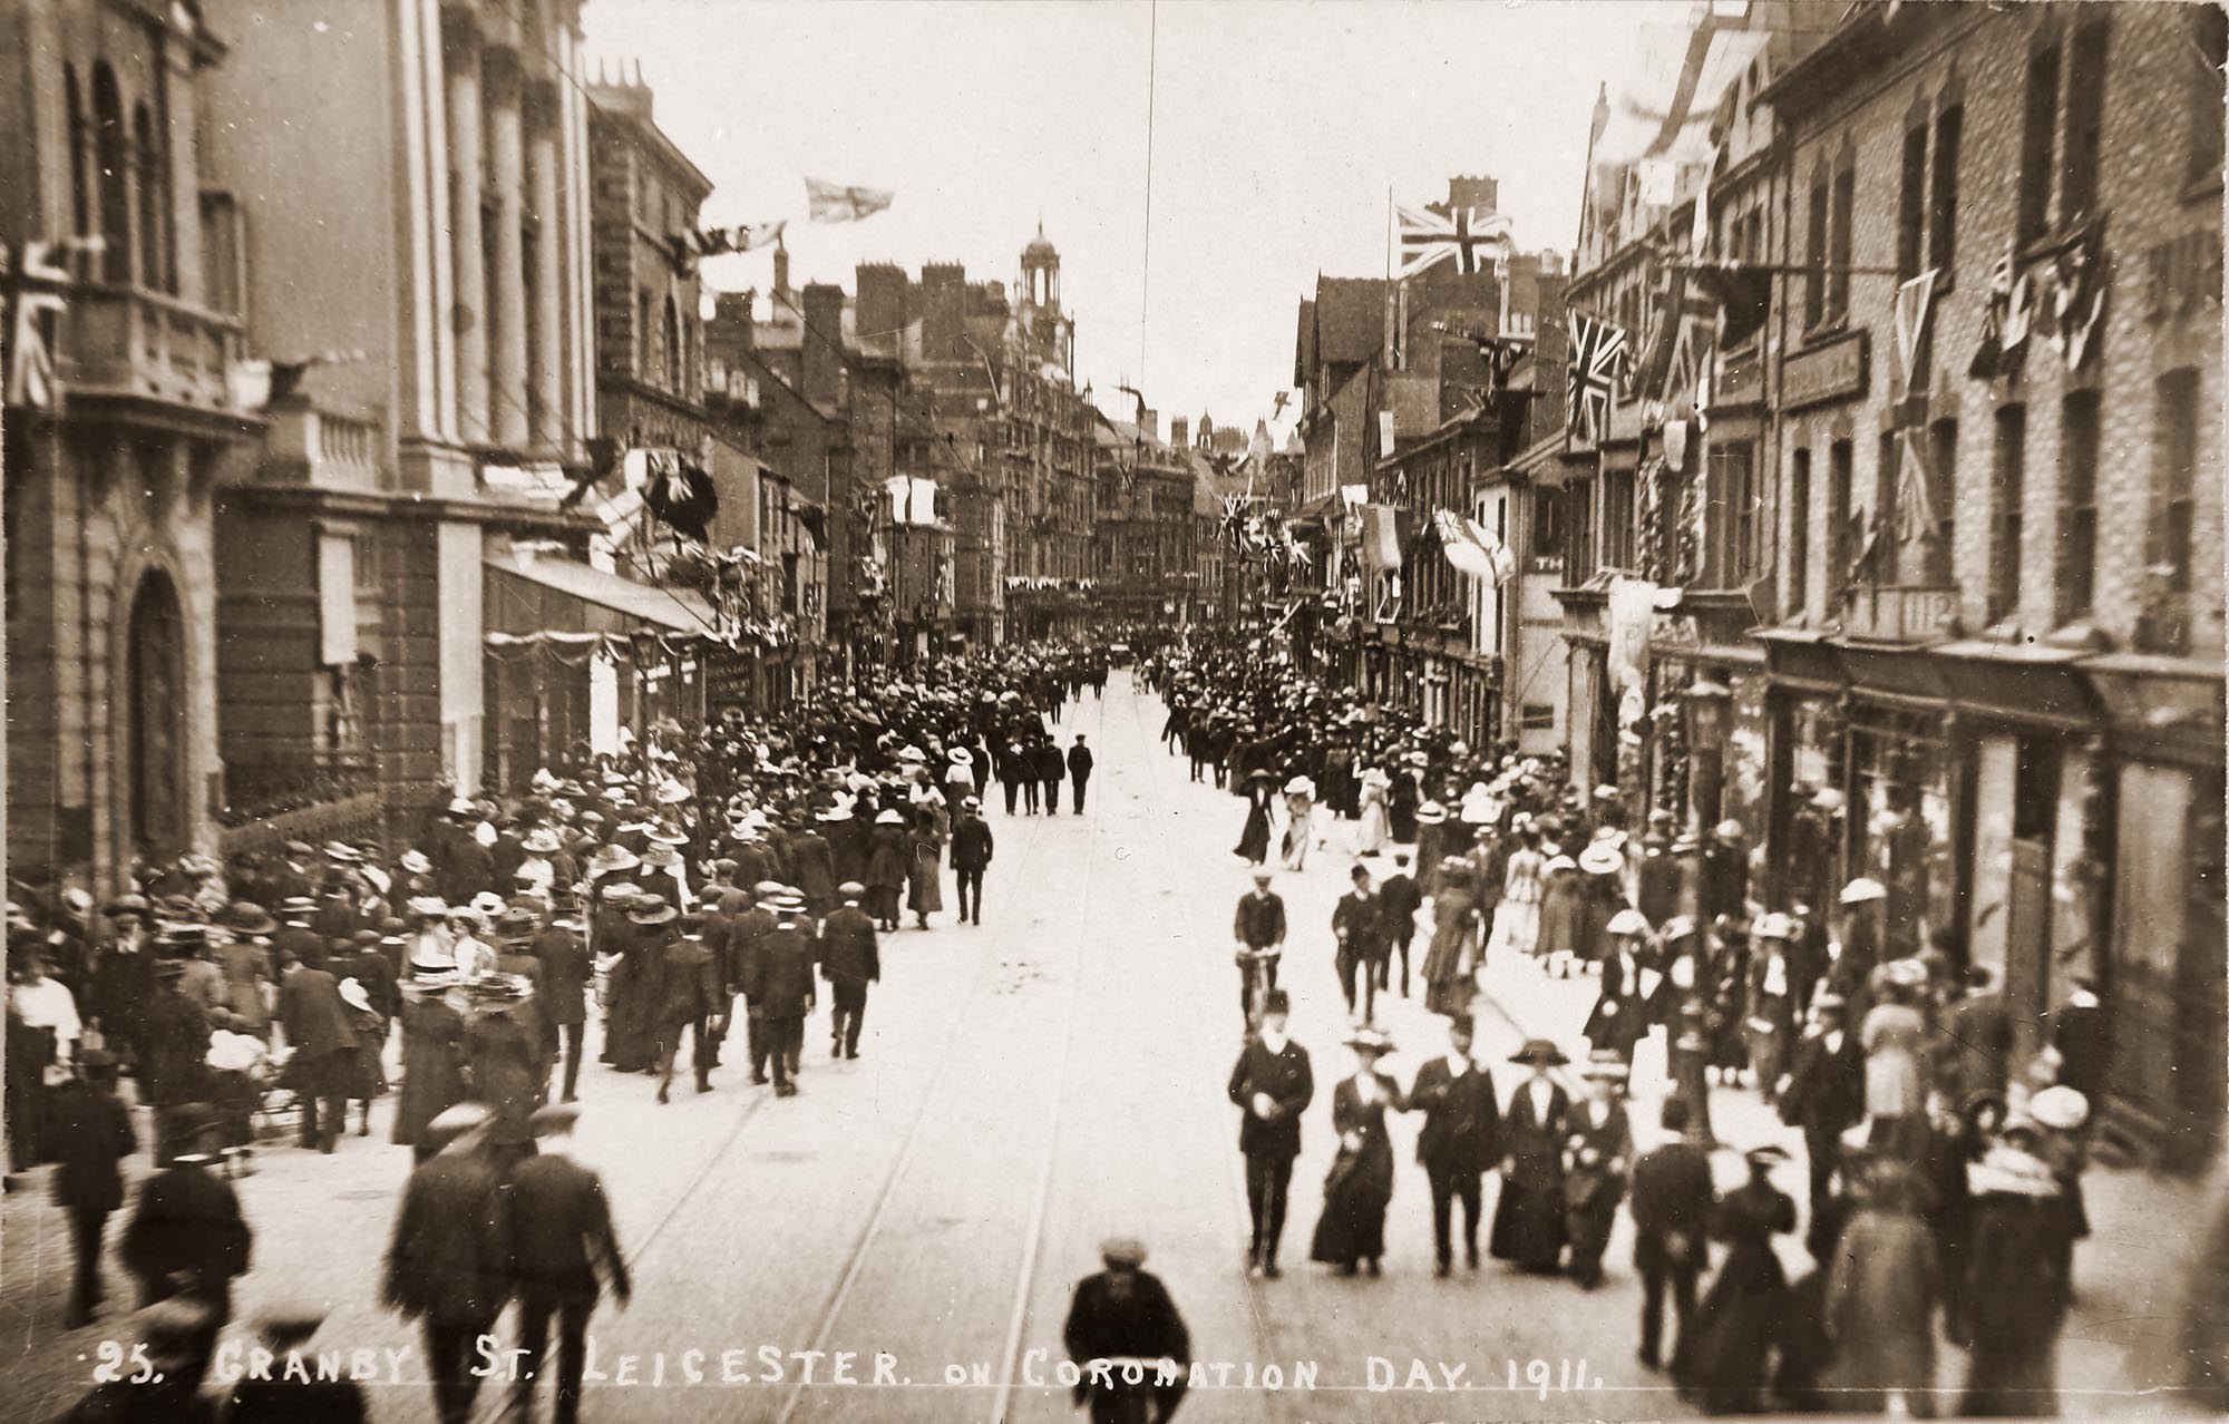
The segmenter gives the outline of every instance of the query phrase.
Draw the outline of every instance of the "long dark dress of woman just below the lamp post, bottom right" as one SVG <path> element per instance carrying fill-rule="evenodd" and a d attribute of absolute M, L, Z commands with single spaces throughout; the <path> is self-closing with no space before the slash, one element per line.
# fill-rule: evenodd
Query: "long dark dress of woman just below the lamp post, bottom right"
<path fill-rule="evenodd" d="M 1788 1297 L 1772 1237 L 1794 1226 L 1797 1203 L 1770 1181 L 1752 1179 L 1719 1203 L 1712 1235 L 1730 1248 L 1672 1362 L 1672 1379 L 1705 1413 L 1763 1408 L 1768 1359 Z"/>

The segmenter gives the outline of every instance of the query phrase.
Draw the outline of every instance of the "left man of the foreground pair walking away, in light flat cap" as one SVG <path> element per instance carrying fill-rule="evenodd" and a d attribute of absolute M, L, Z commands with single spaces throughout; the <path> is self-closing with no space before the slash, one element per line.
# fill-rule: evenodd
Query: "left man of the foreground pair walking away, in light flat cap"
<path fill-rule="evenodd" d="M 426 1125 L 441 1148 L 403 1183 L 383 1297 L 426 1330 L 435 1417 L 466 1424 L 479 1395 L 475 1342 L 510 1299 L 510 1226 L 486 1154 L 490 1114 L 457 1103 Z"/>

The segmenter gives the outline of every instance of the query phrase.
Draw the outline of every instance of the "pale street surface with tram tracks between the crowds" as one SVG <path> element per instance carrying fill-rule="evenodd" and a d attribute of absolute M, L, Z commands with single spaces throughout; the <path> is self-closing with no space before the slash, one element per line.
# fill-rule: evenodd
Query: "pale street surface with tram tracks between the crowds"
<path fill-rule="evenodd" d="M 1054 1373 L 1061 1321 L 1110 1232 L 1146 1239 L 1148 1270 L 1184 1310 L 1195 1357 L 1210 1362 L 1213 1384 L 1179 1415 L 1190 1422 L 1690 1413 L 1634 1362 L 1638 1286 L 1623 1219 L 1609 1281 L 1594 1293 L 1491 1261 L 1433 1279 L 1413 1114 L 1393 1125 L 1402 1170 L 1384 1277 L 1335 1279 L 1306 1264 L 1333 1150 L 1331 1085 L 1353 1067 L 1337 1047 L 1346 1010 L 1328 929 L 1353 865 L 1342 822 L 1326 822 L 1306 871 L 1277 876 L 1293 925 L 1282 983 L 1317 1101 L 1293 1174 L 1286 1277 L 1246 1279 L 1237 1110 L 1224 1096 L 1242 1030 L 1230 905 L 1248 867 L 1230 847 L 1244 807 L 1188 782 L 1186 762 L 1157 744 L 1161 715 L 1123 673 L 1103 700 L 1068 709 L 1063 740 L 1083 731 L 1099 749 L 1088 811 L 992 809 L 985 923 L 954 925 L 947 909 L 927 932 L 885 936 L 856 1063 L 829 1061 L 823 1016 L 807 1030 L 796 1099 L 771 1099 L 729 1065 L 716 1092 L 660 1108 L 651 1079 L 584 1065 L 577 1154 L 604 1174 L 635 1277 L 633 1304 L 606 1301 L 591 1326 L 604 1377 L 591 1375 L 588 1424 L 1077 1417 Z M 1502 1061 L 1522 1038 L 1580 1047 L 1592 981 L 1547 981 L 1513 958 L 1491 965 L 1485 987 L 1496 1012 L 1480 1021 L 1478 1056 L 1505 1094 L 1520 1070 Z M 1444 1047 L 1422 985 L 1411 994 L 1378 1007 L 1402 1081 Z M 1716 1090 L 1712 1116 L 1727 1143 L 1790 1137 L 1741 1090 Z M 343 1368 L 370 1353 L 381 1424 L 430 1417 L 417 1333 L 377 1299 L 410 1165 L 388 1125 L 383 1105 L 374 1137 L 350 1137 L 332 1157 L 274 1143 L 236 1181 L 256 1252 L 227 1333 L 247 1342 L 279 1304 L 323 1306 L 312 1348 Z M 1739 1179 L 1739 1157 L 1725 1152 L 1719 1170 Z M 1801 1197 L 1801 1163 L 1781 1181 Z M 9 1417 L 38 1420 L 87 1388 L 103 1342 L 129 1342 L 129 1317 L 60 1328 L 67 1230 L 42 1174 L 27 1188 L 0 1203 L 0 1399 Z M 2160 1377 L 2131 1364 L 2171 1328 L 2182 1286 L 2158 1221 L 2191 1221 L 2162 1212 L 2193 1203 L 2196 1192 L 2153 1179 L 2093 1172 L 2097 1237 L 2077 1255 L 2062 1377 L 2113 1388 Z M 107 1277 L 111 1295 L 127 1288 L 114 1255 Z M 508 1319 L 499 1335 L 508 1346 Z M 2095 1397 L 2100 1408 L 2115 1399 Z M 497 1404 L 490 1386 L 481 1417 Z"/>

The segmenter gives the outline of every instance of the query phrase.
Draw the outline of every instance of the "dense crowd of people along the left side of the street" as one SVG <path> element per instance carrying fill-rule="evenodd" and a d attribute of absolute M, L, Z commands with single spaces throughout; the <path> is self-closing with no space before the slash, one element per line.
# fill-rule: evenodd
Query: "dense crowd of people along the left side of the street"
<path fill-rule="evenodd" d="M 1099 642 L 863 671 L 780 715 L 662 722 L 510 793 L 444 798 L 403 838 L 183 856 L 107 900 L 18 885 L 9 1159 L 60 1163 L 67 1324 L 103 1306 L 134 1105 L 154 1174 L 118 1257 L 140 1308 L 174 1304 L 154 1324 L 189 1399 L 252 1255 L 227 1179 L 274 1130 L 339 1152 L 392 1094 L 417 1168 L 386 1299 L 424 1321 L 439 1417 L 468 1417 L 470 1342 L 517 1301 L 533 1355 L 557 1324 L 571 1420 L 597 1281 L 626 1297 L 602 1188 L 562 1150 L 591 1014 L 602 1065 L 653 1079 L 653 1103 L 680 1067 L 695 1092 L 733 1065 L 796 1096 L 823 1005 L 829 1059 L 858 1059 L 880 938 L 945 914 L 947 869 L 956 923 L 983 923 L 994 787 L 1050 816 L 1065 784 L 1083 813 L 1092 749 L 1050 729 L 1106 673 Z"/>

